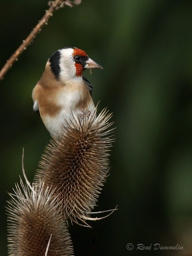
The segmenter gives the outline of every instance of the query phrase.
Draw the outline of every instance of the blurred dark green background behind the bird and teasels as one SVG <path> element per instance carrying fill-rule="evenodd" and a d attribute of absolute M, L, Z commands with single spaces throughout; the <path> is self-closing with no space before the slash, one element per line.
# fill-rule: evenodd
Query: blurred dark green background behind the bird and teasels
<path fill-rule="evenodd" d="M 47 0 L 0 1 L 0 64 L 28 36 Z M 6 251 L 5 205 L 25 169 L 33 180 L 50 136 L 33 112 L 31 92 L 51 54 L 83 49 L 103 70 L 85 76 L 99 111 L 114 113 L 110 176 L 95 210 L 119 210 L 70 227 L 75 255 L 143 255 L 126 244 L 184 246 L 192 253 L 192 2 L 82 0 L 54 13 L 0 83 L 0 255 Z M 152 255 L 181 255 L 153 251 Z"/>

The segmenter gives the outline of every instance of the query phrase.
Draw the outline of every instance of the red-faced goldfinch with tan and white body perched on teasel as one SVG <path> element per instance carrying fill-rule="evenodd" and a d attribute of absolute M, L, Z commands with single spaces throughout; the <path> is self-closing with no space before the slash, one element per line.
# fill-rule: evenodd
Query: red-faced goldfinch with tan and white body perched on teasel
<path fill-rule="evenodd" d="M 33 110 L 52 137 L 58 138 L 61 125 L 67 126 L 71 112 L 78 117 L 94 111 L 92 85 L 83 76 L 84 69 L 100 68 L 81 49 L 64 47 L 48 59 L 43 75 L 32 92 Z"/>

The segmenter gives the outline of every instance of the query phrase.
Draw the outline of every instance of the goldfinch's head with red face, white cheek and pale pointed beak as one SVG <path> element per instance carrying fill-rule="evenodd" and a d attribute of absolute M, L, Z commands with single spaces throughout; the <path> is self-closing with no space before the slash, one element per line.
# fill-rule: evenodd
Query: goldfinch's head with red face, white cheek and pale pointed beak
<path fill-rule="evenodd" d="M 48 60 L 52 73 L 57 80 L 68 81 L 82 77 L 85 68 L 101 68 L 87 54 L 76 47 L 65 47 L 54 52 Z"/>

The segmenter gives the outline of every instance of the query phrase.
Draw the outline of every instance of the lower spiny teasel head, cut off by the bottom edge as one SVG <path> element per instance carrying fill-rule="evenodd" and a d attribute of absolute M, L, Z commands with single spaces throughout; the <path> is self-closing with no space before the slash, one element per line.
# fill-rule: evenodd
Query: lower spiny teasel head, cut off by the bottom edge
<path fill-rule="evenodd" d="M 8 201 L 10 256 L 70 256 L 73 247 L 54 191 L 40 181 L 32 190 L 17 184 Z"/>

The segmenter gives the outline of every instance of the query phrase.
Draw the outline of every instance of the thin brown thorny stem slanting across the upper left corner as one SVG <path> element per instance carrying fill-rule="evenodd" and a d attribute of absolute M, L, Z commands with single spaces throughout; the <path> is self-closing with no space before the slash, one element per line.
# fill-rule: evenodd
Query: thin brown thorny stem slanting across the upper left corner
<path fill-rule="evenodd" d="M 13 62 L 15 60 L 18 60 L 18 57 L 20 56 L 20 54 L 24 50 L 26 50 L 27 46 L 32 42 L 32 40 L 36 37 L 36 35 L 41 31 L 41 28 L 45 24 L 47 24 L 47 21 L 53 15 L 52 13 L 55 10 L 58 10 L 59 8 L 64 7 L 65 4 L 72 7 L 72 6 L 80 4 L 80 3 L 81 3 L 81 0 L 74 0 L 73 2 L 69 1 L 69 0 L 49 1 L 48 4 L 49 4 L 50 8 L 47 11 L 45 11 L 45 14 L 44 14 L 43 18 L 41 20 L 39 20 L 36 27 L 31 31 L 31 33 L 28 35 L 28 37 L 25 40 L 23 40 L 23 43 L 20 45 L 20 47 L 13 53 L 11 58 L 9 60 L 7 60 L 4 67 L 1 69 L 1 71 L 0 71 L 0 80 L 3 79 L 4 75 L 7 73 L 9 68 L 12 67 Z"/>

